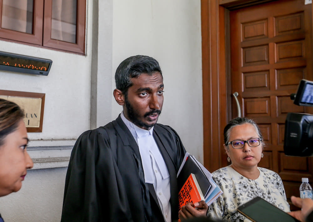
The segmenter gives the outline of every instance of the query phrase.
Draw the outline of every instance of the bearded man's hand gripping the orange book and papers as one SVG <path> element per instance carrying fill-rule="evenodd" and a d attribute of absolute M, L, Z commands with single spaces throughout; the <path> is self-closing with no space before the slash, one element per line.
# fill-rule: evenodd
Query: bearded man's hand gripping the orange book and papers
<path fill-rule="evenodd" d="M 178 212 L 179 219 L 184 220 L 192 217 L 206 217 L 208 210 L 208 204 L 204 200 L 196 203 L 187 203 L 182 206 L 182 209 Z"/>

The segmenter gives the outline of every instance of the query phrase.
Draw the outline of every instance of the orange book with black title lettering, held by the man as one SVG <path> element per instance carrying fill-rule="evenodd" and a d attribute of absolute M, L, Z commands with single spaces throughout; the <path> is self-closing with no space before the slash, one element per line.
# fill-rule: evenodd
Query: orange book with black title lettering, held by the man
<path fill-rule="evenodd" d="M 189 175 L 186 182 L 182 186 L 182 189 L 180 189 L 178 193 L 178 199 L 179 210 L 182 208 L 182 206 L 186 205 L 187 202 L 196 203 L 200 200 L 204 200 L 203 193 L 200 189 L 195 174 L 191 173 Z"/>

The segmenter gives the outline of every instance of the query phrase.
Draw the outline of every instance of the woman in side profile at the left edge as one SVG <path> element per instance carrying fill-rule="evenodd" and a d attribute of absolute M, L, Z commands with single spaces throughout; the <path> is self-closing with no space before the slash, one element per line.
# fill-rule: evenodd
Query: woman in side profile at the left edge
<path fill-rule="evenodd" d="M 0 99 L 0 197 L 21 189 L 26 170 L 33 167 L 26 151 L 28 137 L 23 117 L 17 104 Z"/>

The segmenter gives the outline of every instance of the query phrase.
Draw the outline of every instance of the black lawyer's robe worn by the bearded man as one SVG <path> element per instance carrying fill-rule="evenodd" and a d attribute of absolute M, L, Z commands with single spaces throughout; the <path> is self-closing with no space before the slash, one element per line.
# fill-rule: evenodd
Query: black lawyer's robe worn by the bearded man
<path fill-rule="evenodd" d="M 177 133 L 156 124 L 153 137 L 170 174 L 172 221 L 178 219 L 176 174 L 186 153 Z M 81 134 L 65 179 L 61 222 L 164 221 L 152 184 L 144 182 L 135 139 L 119 116 Z"/>

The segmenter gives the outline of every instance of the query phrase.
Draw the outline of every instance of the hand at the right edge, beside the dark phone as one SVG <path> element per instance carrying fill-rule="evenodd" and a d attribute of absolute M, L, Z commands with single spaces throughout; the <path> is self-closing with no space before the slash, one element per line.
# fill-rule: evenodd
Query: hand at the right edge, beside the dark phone
<path fill-rule="evenodd" d="M 288 214 L 302 222 L 305 222 L 305 218 L 313 210 L 313 200 L 310 198 L 301 199 L 300 197 L 291 196 L 291 202 L 296 207 L 300 207 L 301 210 L 291 211 Z"/>

